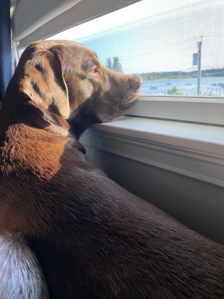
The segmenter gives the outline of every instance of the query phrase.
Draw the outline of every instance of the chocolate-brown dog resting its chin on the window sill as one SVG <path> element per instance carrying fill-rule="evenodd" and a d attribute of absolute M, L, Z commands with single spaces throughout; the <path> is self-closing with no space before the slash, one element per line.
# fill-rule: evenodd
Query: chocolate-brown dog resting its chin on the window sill
<path fill-rule="evenodd" d="M 141 83 L 82 45 L 43 41 L 7 88 L 0 229 L 24 234 L 50 298 L 224 298 L 224 247 L 111 181 L 77 139 L 131 109 Z"/>

